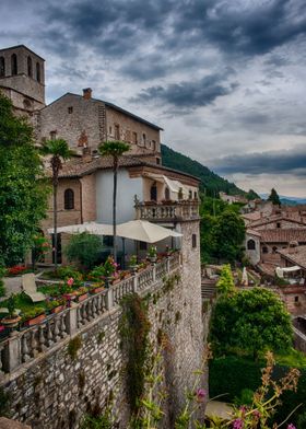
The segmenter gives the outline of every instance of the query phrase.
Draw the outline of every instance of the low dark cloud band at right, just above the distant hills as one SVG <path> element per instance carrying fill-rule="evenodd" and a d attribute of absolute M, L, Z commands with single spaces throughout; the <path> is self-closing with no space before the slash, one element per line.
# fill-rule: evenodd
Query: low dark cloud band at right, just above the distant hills
<path fill-rule="evenodd" d="M 246 153 L 225 156 L 212 162 L 222 174 L 294 174 L 306 177 L 306 144 L 284 151 Z"/>

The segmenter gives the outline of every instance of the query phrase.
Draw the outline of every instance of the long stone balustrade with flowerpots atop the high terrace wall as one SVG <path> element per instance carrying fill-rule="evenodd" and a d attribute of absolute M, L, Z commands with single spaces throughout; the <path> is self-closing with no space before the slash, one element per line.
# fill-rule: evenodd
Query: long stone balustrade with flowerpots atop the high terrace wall
<path fill-rule="evenodd" d="M 175 253 L 80 303 L 71 303 L 69 309 L 49 315 L 38 325 L 13 332 L 0 343 L 0 378 L 51 349 L 67 336 L 76 335 L 94 320 L 109 314 L 128 293 L 142 293 L 157 281 L 161 282 L 163 277 L 177 270 L 179 265 L 180 254 Z"/>

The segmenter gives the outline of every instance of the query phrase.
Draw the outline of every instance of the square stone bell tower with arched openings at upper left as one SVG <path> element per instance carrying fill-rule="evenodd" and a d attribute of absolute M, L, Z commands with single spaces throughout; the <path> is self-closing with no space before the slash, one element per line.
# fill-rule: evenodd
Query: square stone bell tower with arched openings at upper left
<path fill-rule="evenodd" d="M 17 115 L 45 107 L 45 60 L 24 45 L 0 49 L 0 91 Z"/>

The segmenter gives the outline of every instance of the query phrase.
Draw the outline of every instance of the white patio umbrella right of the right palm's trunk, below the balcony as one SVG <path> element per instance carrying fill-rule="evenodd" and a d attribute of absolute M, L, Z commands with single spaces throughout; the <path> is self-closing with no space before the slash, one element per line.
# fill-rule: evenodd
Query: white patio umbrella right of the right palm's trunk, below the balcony
<path fill-rule="evenodd" d="M 156 243 L 169 236 L 179 237 L 183 234 L 160 227 L 145 220 L 131 220 L 117 225 L 117 235 L 122 239 L 142 241 L 145 243 Z"/>

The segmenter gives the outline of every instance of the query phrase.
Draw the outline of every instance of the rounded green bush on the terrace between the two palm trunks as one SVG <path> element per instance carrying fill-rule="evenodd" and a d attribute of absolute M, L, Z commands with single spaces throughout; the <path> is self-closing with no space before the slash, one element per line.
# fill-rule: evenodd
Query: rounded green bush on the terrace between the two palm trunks
<path fill-rule="evenodd" d="M 98 235 L 82 232 L 71 236 L 64 254 L 70 262 L 76 262 L 91 269 L 99 262 L 102 251 L 103 244 Z"/>

